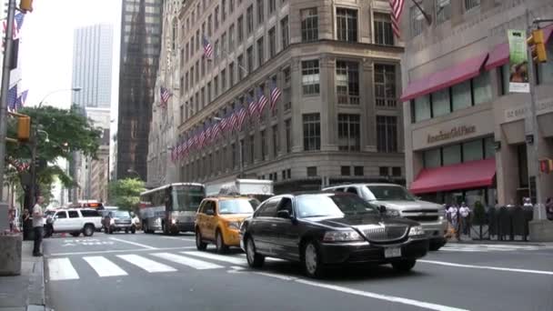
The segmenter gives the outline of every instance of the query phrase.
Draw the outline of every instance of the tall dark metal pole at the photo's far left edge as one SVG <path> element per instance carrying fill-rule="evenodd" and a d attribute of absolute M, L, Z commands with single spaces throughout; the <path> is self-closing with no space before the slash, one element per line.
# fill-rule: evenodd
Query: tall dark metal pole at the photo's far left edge
<path fill-rule="evenodd" d="M 14 40 L 15 0 L 9 0 L 7 9 L 7 28 L 5 31 L 4 63 L 2 65 L 2 89 L 0 95 L 0 186 L 4 187 L 5 170 L 5 137 L 7 134 L 7 92 L 10 88 L 10 63 L 12 58 L 12 43 Z M 0 201 L 4 199 L 4 191 L 0 190 Z"/>

